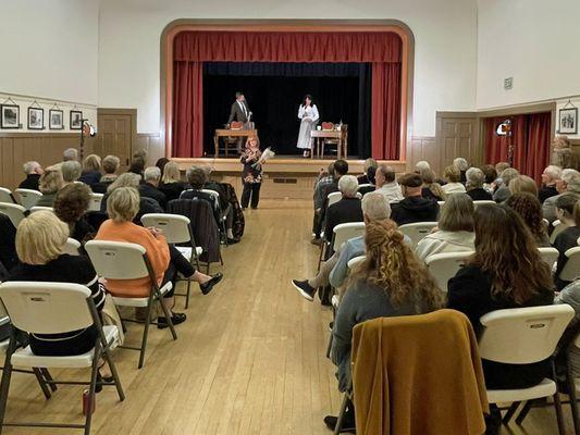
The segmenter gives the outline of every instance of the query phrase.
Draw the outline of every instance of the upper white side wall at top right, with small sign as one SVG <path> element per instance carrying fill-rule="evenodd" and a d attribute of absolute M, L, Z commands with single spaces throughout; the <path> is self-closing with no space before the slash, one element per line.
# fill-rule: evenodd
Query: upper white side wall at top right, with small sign
<path fill-rule="evenodd" d="M 478 0 L 478 109 L 580 95 L 579 20 L 578 0 Z"/>

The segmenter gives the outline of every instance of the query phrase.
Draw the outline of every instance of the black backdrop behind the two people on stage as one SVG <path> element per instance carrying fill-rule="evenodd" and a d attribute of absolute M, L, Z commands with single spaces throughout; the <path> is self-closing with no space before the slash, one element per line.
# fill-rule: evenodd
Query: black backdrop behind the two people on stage
<path fill-rule="evenodd" d="M 213 132 L 223 128 L 242 90 L 254 113 L 261 147 L 282 156 L 296 148 L 298 105 L 311 94 L 320 122 L 348 124 L 348 154 L 371 157 L 371 80 L 368 63 L 207 62 L 203 64 L 203 154 L 212 156 Z"/>

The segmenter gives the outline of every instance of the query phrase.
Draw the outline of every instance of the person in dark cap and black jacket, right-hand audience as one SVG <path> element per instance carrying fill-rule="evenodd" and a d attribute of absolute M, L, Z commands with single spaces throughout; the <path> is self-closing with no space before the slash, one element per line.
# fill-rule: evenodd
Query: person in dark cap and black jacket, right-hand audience
<path fill-rule="evenodd" d="M 414 222 L 434 222 L 437 220 L 437 201 L 421 197 L 423 181 L 419 174 L 407 173 L 398 178 L 405 199 L 393 203 L 391 219 L 397 225 Z"/>

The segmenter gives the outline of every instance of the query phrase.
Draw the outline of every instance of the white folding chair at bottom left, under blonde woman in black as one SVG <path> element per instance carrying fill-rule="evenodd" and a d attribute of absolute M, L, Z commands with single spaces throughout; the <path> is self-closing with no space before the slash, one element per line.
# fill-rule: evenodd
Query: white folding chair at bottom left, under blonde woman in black
<path fill-rule="evenodd" d="M 87 407 L 95 402 L 97 385 L 116 387 L 120 400 L 125 399 L 121 381 L 110 357 L 116 345 L 119 330 L 116 326 L 102 326 L 99 313 L 92 301 L 90 290 L 78 284 L 65 283 L 28 283 L 8 282 L 0 285 L 0 298 L 15 328 L 30 334 L 61 334 L 78 331 L 95 325 L 98 337 L 95 347 L 86 353 L 69 357 L 40 357 L 33 353 L 30 347 L 16 349 L 16 336 L 13 332 L 4 360 L 4 370 L 0 383 L 0 428 L 2 426 L 26 427 L 67 427 L 83 428 L 90 433 L 91 412 L 87 412 L 85 424 L 46 423 L 46 422 L 5 422 L 5 408 L 13 365 L 26 368 L 83 369 L 90 368 L 89 382 L 46 381 L 50 385 L 73 384 L 88 385 Z M 99 382 L 97 374 L 99 360 L 103 358 L 111 369 L 113 382 Z"/>

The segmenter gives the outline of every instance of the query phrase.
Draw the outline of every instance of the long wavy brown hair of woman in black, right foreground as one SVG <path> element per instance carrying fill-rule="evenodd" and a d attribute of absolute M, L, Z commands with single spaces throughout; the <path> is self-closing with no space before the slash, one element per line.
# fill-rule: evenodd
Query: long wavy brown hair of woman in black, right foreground
<path fill-rule="evenodd" d="M 474 227 L 476 253 L 467 263 L 489 276 L 493 299 L 521 304 L 554 287 L 550 265 L 518 213 L 507 206 L 483 204 L 476 209 Z"/>

